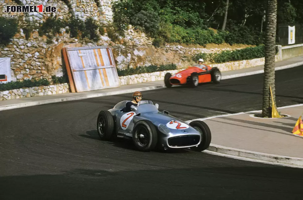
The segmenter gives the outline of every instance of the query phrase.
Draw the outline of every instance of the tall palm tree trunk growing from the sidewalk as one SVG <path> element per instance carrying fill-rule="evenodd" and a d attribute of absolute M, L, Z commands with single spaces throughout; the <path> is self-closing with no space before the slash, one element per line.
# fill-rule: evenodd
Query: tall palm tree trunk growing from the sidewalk
<path fill-rule="evenodd" d="M 275 102 L 275 38 L 277 28 L 277 0 L 267 0 L 265 65 L 263 80 L 262 116 L 271 117 L 271 94 Z M 276 104 L 274 104 L 276 106 Z"/>

